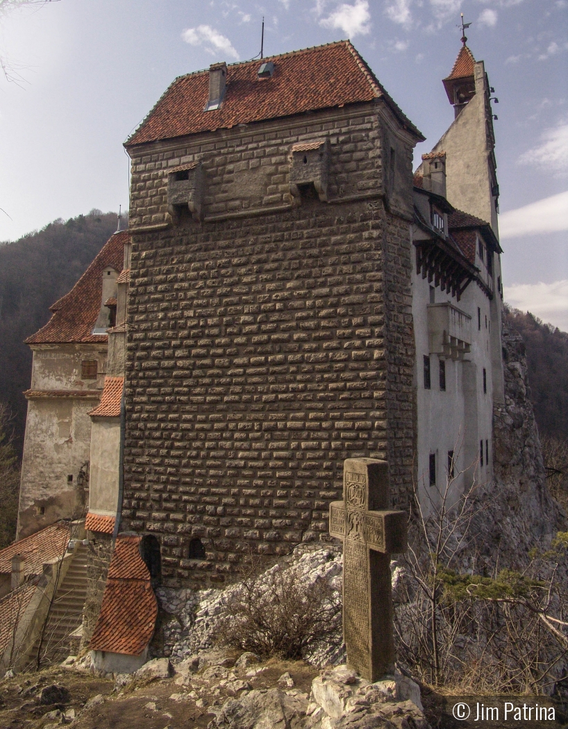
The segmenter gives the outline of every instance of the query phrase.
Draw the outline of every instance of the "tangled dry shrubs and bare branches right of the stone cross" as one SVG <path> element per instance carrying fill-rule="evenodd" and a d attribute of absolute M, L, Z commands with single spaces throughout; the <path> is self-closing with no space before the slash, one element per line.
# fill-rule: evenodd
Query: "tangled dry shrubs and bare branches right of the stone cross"
<path fill-rule="evenodd" d="M 448 479 L 429 515 L 416 499 L 394 599 L 400 662 L 421 681 L 464 694 L 563 692 L 568 533 L 533 550 L 524 568 L 486 574 L 470 536 L 475 485 L 454 507 L 451 491 Z"/>

